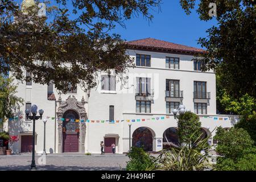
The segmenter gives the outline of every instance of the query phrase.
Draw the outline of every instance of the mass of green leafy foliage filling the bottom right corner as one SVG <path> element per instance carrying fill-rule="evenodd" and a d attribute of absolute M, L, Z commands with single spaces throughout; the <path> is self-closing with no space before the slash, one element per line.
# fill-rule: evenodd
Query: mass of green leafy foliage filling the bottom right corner
<path fill-rule="evenodd" d="M 214 139 L 218 141 L 216 151 L 219 171 L 256 170 L 256 147 L 246 130 L 233 127 L 229 131 L 217 128 Z"/>

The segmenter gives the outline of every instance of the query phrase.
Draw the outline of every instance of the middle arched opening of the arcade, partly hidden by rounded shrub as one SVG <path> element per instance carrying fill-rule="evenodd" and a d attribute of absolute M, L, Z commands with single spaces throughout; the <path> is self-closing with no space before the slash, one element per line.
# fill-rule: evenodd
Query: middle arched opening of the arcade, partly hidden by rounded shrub
<path fill-rule="evenodd" d="M 163 149 L 179 146 L 179 137 L 177 135 L 177 128 L 170 127 L 163 133 Z"/>

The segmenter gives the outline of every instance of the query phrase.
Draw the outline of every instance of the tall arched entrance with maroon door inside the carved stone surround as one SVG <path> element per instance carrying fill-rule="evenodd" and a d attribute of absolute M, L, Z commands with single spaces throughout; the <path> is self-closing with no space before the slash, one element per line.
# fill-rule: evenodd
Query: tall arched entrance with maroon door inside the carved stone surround
<path fill-rule="evenodd" d="M 63 152 L 79 152 L 79 114 L 73 110 L 67 110 L 63 114 Z"/>

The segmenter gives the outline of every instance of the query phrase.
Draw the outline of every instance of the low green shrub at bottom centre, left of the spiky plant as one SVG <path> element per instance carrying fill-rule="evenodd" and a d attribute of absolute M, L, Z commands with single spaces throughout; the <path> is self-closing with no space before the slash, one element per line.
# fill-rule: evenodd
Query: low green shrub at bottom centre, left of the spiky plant
<path fill-rule="evenodd" d="M 155 166 L 155 158 L 145 152 L 143 148 L 132 147 L 128 154 L 127 171 L 147 171 Z"/>

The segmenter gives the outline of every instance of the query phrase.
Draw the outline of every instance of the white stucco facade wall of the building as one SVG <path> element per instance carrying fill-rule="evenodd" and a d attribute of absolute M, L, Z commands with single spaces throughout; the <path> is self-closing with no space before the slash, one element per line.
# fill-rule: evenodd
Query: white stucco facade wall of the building
<path fill-rule="evenodd" d="M 75 96 L 77 101 L 85 98 L 85 110 L 88 119 L 90 120 L 109 120 L 109 106 L 114 106 L 114 119 L 119 120 L 119 123 L 86 123 L 85 135 L 85 152 L 100 153 L 100 141 L 104 137 L 115 136 L 117 153 L 127 152 L 129 150 L 129 126 L 128 123 L 121 122 L 122 119 L 147 119 L 152 117 L 161 117 L 169 115 L 170 118 L 159 121 L 133 122 L 131 125 L 131 134 L 139 127 L 147 127 L 152 131 L 153 135 L 153 151 L 162 150 L 162 146 L 158 146 L 157 141 L 162 141 L 163 133 L 169 127 L 176 127 L 177 122 L 172 114 L 166 114 L 166 79 L 180 80 L 180 90 L 183 90 L 183 104 L 186 109 L 193 111 L 193 81 L 206 81 L 207 92 L 210 92 L 209 105 L 207 106 L 207 115 L 216 116 L 216 77 L 210 72 L 193 71 L 193 56 L 191 55 L 175 55 L 170 53 L 160 53 L 151 51 L 127 50 L 127 53 L 134 57 L 136 54 L 151 55 L 151 67 L 136 67 L 129 69 L 129 76 L 126 85 L 121 84 L 120 79 L 116 80 L 115 91 L 102 91 L 101 84 L 90 90 L 88 94 L 77 88 L 75 94 L 61 94 L 61 100 L 65 101 L 68 96 Z M 179 57 L 180 69 L 166 69 L 166 56 Z M 104 73 L 102 73 L 104 74 Z M 136 77 L 150 77 L 151 86 L 154 89 L 154 102 L 151 104 L 151 113 L 136 113 L 135 87 Z M 56 101 L 59 98 L 57 90 L 54 90 Z M 27 86 L 26 83 L 19 83 L 18 97 L 22 97 L 25 102 L 31 102 L 32 105 L 38 105 L 39 109 L 44 110 L 43 118 L 50 117 L 47 120 L 46 130 L 46 151 L 58 151 L 58 131 L 56 119 L 56 110 L 59 107 L 55 101 L 47 100 L 47 85 L 39 85 L 32 83 L 32 86 Z M 9 122 L 9 131 L 11 134 L 19 135 L 24 132 L 32 131 L 32 122 L 25 121 L 24 115 L 25 105 L 20 110 L 23 113 L 23 119 L 19 121 Z M 203 115 L 201 115 L 203 116 Z M 224 117 L 224 116 L 223 116 Z M 229 117 L 226 121 L 213 121 L 212 118 L 200 118 L 202 127 L 214 130 L 217 126 L 231 127 L 233 125 L 233 117 Z M 36 152 L 43 151 L 43 121 L 36 121 Z M 214 134 L 214 132 L 213 132 Z M 16 152 L 20 152 L 20 143 L 15 144 Z"/>

